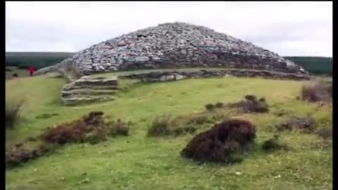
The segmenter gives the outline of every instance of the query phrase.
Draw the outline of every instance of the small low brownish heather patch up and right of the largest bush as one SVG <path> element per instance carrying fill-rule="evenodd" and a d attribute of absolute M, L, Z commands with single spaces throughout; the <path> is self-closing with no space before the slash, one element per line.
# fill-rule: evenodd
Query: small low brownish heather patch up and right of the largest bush
<path fill-rule="evenodd" d="M 315 120 L 313 118 L 291 117 L 286 122 L 275 126 L 278 131 L 301 129 L 304 132 L 313 132 Z"/>

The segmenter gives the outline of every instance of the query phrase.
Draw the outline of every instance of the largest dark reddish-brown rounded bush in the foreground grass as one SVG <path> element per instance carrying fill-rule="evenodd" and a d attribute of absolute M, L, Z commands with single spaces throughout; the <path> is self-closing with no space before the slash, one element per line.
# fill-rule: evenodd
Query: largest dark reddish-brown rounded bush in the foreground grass
<path fill-rule="evenodd" d="M 236 154 L 249 148 L 256 137 L 255 127 L 246 120 L 226 120 L 194 137 L 181 156 L 199 161 L 231 163 Z"/>

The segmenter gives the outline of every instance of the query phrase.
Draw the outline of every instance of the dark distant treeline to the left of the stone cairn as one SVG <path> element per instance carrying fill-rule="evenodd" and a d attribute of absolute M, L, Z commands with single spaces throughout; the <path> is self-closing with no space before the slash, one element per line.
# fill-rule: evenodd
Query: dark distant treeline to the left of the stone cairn
<path fill-rule="evenodd" d="M 68 52 L 6 52 L 6 66 L 27 69 L 33 66 L 36 70 L 60 63 L 73 56 Z"/>

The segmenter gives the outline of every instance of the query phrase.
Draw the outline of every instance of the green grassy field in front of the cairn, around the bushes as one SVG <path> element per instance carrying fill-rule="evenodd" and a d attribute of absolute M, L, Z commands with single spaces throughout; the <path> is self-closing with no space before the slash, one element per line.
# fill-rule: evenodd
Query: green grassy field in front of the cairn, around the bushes
<path fill-rule="evenodd" d="M 48 75 L 6 81 L 6 99 L 26 101 L 25 120 L 6 131 L 6 147 L 92 110 L 134 122 L 130 136 L 96 145 L 68 144 L 6 170 L 6 189 L 332 189 L 332 146 L 318 148 L 317 135 L 283 132 L 281 138 L 292 146 L 291 151 L 265 153 L 259 147 L 273 136 L 273 125 L 287 118 L 274 114 L 280 110 L 311 115 L 319 128 L 330 126 L 331 106 L 296 100 L 303 82 L 228 77 L 137 84 L 121 91 L 115 101 L 76 107 L 61 105 L 63 84 L 65 80 Z M 239 101 L 246 94 L 264 96 L 270 112 L 237 115 L 257 126 L 256 146 L 243 163 L 198 165 L 182 158 L 179 153 L 192 139 L 190 134 L 146 137 L 156 115 L 192 113 L 204 110 L 206 103 Z M 36 118 L 44 113 L 58 115 Z"/>

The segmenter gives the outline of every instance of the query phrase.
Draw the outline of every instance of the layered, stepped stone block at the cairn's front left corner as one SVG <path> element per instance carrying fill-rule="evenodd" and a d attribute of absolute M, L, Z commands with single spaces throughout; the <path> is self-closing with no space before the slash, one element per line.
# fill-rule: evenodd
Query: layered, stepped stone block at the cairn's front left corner
<path fill-rule="evenodd" d="M 111 101 L 118 91 L 118 78 L 81 77 L 66 84 L 61 91 L 61 100 L 65 105 L 74 106 L 81 103 Z"/>

